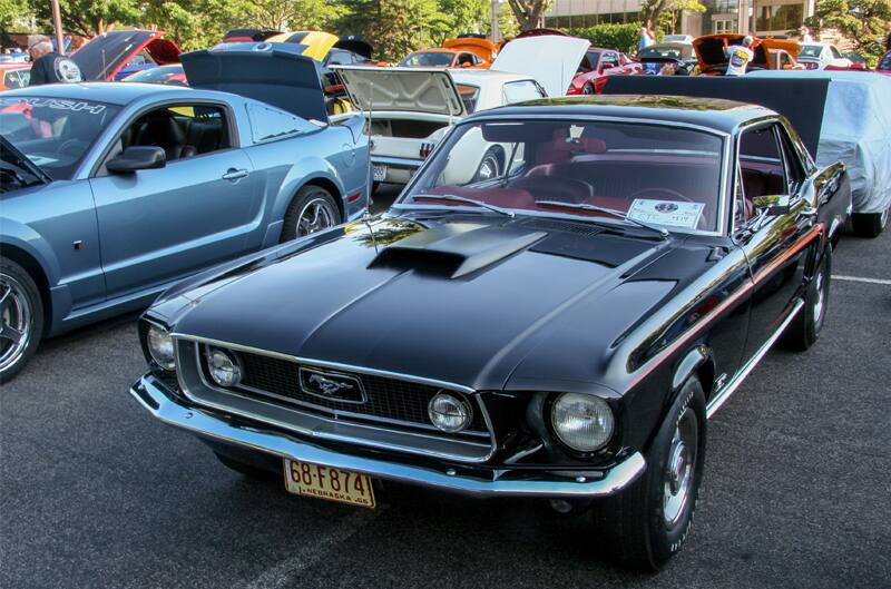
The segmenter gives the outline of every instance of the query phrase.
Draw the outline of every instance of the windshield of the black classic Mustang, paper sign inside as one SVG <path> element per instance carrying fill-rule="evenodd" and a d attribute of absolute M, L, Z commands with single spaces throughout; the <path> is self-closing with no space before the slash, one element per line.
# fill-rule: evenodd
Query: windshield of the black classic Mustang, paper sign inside
<path fill-rule="evenodd" d="M 722 148 L 718 136 L 670 125 L 459 125 L 398 206 L 468 206 L 430 198 L 450 195 L 517 213 L 609 218 L 590 210 L 601 207 L 669 230 L 714 232 Z"/>

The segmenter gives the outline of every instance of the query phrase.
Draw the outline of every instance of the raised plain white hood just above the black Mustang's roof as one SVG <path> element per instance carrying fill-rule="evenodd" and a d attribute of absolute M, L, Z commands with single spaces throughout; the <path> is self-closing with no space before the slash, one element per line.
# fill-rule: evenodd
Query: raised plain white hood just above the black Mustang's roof
<path fill-rule="evenodd" d="M 549 97 L 565 96 L 590 46 L 586 39 L 557 35 L 513 39 L 501 49 L 490 69 L 531 76 Z"/>

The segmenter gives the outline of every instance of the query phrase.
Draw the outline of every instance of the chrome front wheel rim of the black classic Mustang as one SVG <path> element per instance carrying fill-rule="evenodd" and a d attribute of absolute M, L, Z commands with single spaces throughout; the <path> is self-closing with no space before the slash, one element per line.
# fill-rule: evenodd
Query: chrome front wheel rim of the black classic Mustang
<path fill-rule="evenodd" d="M 687 408 L 681 414 L 668 449 L 663 483 L 663 517 L 673 528 L 683 520 L 689 505 L 693 480 L 696 474 L 696 449 L 698 444 L 696 414 Z"/>

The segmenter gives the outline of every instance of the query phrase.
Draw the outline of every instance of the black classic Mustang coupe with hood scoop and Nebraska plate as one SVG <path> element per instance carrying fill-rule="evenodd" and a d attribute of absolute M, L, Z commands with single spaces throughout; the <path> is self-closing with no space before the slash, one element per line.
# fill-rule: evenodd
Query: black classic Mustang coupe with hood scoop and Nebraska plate
<path fill-rule="evenodd" d="M 540 497 L 657 569 L 687 537 L 707 418 L 775 341 L 819 337 L 850 199 L 762 107 L 481 112 L 388 214 L 167 292 L 131 394 L 296 494 Z"/>

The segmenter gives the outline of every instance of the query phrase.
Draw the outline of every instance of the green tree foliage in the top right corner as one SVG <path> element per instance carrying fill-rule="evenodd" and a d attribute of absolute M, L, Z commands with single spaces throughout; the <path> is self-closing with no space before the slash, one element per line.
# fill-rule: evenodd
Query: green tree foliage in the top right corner
<path fill-rule="evenodd" d="M 884 51 L 884 36 L 891 24 L 891 0 L 819 0 L 814 16 L 805 24 L 819 33 L 838 29 L 874 65 Z"/>

